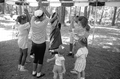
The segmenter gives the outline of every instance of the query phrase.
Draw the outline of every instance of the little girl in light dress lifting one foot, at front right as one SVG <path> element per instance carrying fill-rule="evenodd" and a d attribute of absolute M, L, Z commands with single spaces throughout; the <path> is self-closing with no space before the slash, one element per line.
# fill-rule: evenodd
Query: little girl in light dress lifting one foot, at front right
<path fill-rule="evenodd" d="M 71 73 L 77 73 L 77 79 L 85 79 L 85 67 L 86 67 L 86 57 L 88 55 L 88 49 L 86 47 L 86 40 L 78 40 L 77 45 L 79 49 L 75 54 L 76 61 L 73 71 Z"/>

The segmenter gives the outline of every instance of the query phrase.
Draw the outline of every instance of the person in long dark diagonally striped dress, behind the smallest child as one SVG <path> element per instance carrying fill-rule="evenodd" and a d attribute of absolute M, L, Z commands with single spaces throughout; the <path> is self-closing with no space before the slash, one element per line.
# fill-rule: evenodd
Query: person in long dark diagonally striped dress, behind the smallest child
<path fill-rule="evenodd" d="M 51 17 L 51 33 L 50 33 L 50 46 L 49 50 L 52 50 L 52 54 L 58 53 L 56 49 L 62 44 L 61 39 L 61 22 L 59 16 L 59 7 L 56 8 L 56 12 L 52 14 Z"/>

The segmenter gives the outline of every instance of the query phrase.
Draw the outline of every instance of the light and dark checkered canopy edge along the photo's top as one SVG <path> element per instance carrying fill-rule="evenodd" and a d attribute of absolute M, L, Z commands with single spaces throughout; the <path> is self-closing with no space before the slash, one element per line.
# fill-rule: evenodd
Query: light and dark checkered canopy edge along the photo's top
<path fill-rule="evenodd" d="M 120 0 L 42 0 L 44 6 L 120 6 Z M 18 4 L 19 0 L 5 0 L 7 4 L 11 5 L 21 5 Z M 25 0 L 29 6 L 37 6 L 36 0 Z"/>

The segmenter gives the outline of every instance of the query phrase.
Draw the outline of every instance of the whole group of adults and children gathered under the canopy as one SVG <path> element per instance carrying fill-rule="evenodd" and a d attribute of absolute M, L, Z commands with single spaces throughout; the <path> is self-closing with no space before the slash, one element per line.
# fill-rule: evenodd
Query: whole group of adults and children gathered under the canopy
<path fill-rule="evenodd" d="M 89 36 L 90 26 L 88 19 L 84 16 L 71 16 L 70 25 L 70 52 L 68 56 L 75 57 L 76 62 L 71 73 L 76 73 L 77 79 L 85 79 L 86 57 L 88 55 L 87 38 Z M 65 57 L 62 52 L 65 47 L 62 44 L 61 38 L 61 22 L 59 16 L 59 8 L 52 15 L 42 6 L 41 0 L 38 1 L 38 7 L 34 11 L 34 15 L 30 17 L 27 9 L 24 14 L 18 16 L 17 27 L 19 31 L 18 46 L 20 49 L 20 56 L 18 62 L 19 71 L 27 71 L 25 69 L 25 62 L 28 51 L 28 35 L 31 31 L 31 54 L 34 58 L 32 75 L 37 78 L 43 77 L 42 73 L 43 60 L 46 50 L 48 23 L 51 24 L 49 51 L 53 58 L 48 59 L 47 62 L 55 60 L 53 67 L 53 79 L 63 79 L 63 74 L 66 72 Z M 81 30 L 80 30 L 81 29 Z M 82 31 L 82 33 L 81 33 Z M 75 52 L 74 49 L 77 48 Z"/>

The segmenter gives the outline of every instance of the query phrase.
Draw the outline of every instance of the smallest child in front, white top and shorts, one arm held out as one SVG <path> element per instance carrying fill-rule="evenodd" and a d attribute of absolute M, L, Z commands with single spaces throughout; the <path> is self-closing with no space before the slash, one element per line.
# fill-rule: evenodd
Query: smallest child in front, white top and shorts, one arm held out
<path fill-rule="evenodd" d="M 53 67 L 53 79 L 57 79 L 57 75 L 59 75 L 59 79 L 63 79 L 63 74 L 65 74 L 66 69 L 65 69 L 65 58 L 62 55 L 62 45 L 59 46 L 58 48 L 58 54 L 55 54 L 55 56 L 51 59 L 48 59 L 47 62 L 50 62 L 52 60 L 55 60 L 55 65 Z"/>

